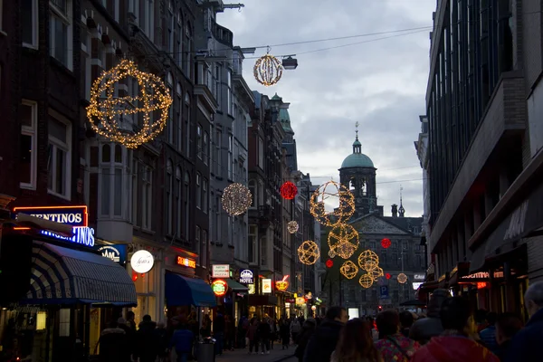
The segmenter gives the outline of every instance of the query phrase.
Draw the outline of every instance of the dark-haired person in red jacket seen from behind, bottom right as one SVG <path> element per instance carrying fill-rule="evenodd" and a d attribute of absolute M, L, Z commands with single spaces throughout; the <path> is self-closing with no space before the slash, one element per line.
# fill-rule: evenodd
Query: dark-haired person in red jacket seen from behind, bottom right
<path fill-rule="evenodd" d="M 414 353 L 412 362 L 499 362 L 488 348 L 469 337 L 470 303 L 462 297 L 443 301 L 440 318 L 443 334 L 433 337 L 430 342 Z M 514 359 L 526 361 L 527 359 Z"/>

